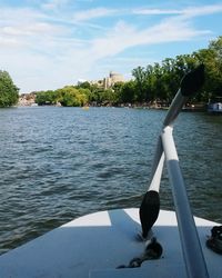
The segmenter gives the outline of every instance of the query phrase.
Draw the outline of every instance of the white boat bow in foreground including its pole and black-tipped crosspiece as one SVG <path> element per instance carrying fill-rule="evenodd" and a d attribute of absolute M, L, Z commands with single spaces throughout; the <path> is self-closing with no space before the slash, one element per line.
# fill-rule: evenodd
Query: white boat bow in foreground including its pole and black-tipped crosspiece
<path fill-rule="evenodd" d="M 201 64 L 181 81 L 140 208 L 87 215 L 18 247 L 0 257 L 0 277 L 221 278 L 222 227 L 192 216 L 172 136 L 173 121 L 203 79 Z M 164 163 L 175 212 L 160 210 Z"/>

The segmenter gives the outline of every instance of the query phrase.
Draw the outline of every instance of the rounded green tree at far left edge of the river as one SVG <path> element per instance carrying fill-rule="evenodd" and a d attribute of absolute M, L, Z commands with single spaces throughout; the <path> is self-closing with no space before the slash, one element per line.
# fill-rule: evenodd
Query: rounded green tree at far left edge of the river
<path fill-rule="evenodd" d="M 19 100 L 19 89 L 7 71 L 0 70 L 0 107 L 11 107 Z"/>

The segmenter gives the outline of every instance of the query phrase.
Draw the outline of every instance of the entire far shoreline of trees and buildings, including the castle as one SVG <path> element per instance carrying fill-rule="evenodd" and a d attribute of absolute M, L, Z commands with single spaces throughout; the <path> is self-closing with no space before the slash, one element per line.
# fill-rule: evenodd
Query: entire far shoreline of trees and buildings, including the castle
<path fill-rule="evenodd" d="M 196 64 L 205 66 L 205 82 L 200 93 L 186 103 L 186 110 L 201 110 L 210 99 L 222 97 L 222 36 L 209 48 L 191 54 L 165 58 L 161 63 L 138 67 L 132 80 L 117 81 L 110 88 L 90 81 L 65 86 L 57 90 L 34 91 L 19 96 L 10 76 L 0 70 L 0 107 L 62 106 L 62 107 L 129 107 L 167 109 L 180 80 Z"/>

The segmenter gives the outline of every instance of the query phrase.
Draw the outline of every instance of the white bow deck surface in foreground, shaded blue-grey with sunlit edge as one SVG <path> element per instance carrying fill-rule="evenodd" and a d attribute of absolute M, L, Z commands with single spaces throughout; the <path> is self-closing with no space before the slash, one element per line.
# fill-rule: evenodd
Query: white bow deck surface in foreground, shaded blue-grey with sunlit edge
<path fill-rule="evenodd" d="M 201 218 L 195 224 L 209 275 L 221 278 L 222 256 L 205 247 L 216 224 Z M 144 250 L 144 242 L 137 239 L 141 231 L 138 209 L 87 215 L 2 255 L 0 277 L 186 277 L 175 214 L 161 210 L 152 230 L 163 247 L 161 258 L 144 261 L 140 268 L 117 269 Z"/>

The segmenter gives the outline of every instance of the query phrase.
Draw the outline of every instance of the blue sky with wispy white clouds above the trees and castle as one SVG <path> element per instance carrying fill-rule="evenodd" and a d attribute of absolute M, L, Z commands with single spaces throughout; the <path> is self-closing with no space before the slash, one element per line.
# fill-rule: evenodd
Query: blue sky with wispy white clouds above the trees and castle
<path fill-rule="evenodd" d="M 208 48 L 214 0 L 0 0 L 0 70 L 20 93 L 56 90 Z"/>

